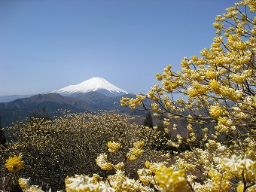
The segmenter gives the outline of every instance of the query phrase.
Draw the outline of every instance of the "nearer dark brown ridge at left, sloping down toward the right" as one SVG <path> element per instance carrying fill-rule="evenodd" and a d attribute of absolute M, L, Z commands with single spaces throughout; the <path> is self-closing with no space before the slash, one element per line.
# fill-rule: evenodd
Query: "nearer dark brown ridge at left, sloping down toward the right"
<path fill-rule="evenodd" d="M 50 117 L 56 116 L 56 111 L 59 109 L 66 109 L 71 112 L 84 112 L 93 109 L 86 102 L 78 99 L 60 96 L 56 93 L 39 94 L 11 102 L 1 102 L 2 127 L 10 126 L 12 122 L 15 123 L 17 120 L 25 120 L 26 117 L 31 117 L 34 111 L 41 112 L 42 108 L 46 108 Z"/>

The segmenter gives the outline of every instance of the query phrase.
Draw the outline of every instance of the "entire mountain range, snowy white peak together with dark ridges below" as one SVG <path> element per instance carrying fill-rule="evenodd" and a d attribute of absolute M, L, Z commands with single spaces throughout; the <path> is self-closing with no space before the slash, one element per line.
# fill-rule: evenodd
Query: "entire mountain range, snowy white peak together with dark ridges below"
<path fill-rule="evenodd" d="M 120 113 L 132 113 L 129 108 L 120 106 L 122 96 L 134 97 L 135 95 L 128 94 L 104 78 L 91 78 L 81 84 L 63 87 L 52 93 L 27 96 L 14 101 L 1 102 L 0 97 L 2 126 L 9 126 L 17 120 L 25 120 L 26 117 L 32 116 L 32 112 L 40 112 L 42 108 L 46 108 L 51 117 L 56 116 L 55 113 L 59 109 L 71 112 L 117 109 Z M 17 97 L 19 96 L 11 98 Z M 8 96 L 4 99 L 8 99 Z"/>

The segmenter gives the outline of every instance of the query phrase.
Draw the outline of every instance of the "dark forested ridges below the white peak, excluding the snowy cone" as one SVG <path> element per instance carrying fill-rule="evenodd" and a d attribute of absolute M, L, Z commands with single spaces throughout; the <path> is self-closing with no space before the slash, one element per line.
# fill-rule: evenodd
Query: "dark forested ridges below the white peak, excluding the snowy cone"
<path fill-rule="evenodd" d="M 72 113 L 84 111 L 97 113 L 101 110 L 114 109 L 126 114 L 133 112 L 129 108 L 120 106 L 122 96 L 110 97 L 97 92 L 80 93 L 75 96 L 78 96 L 79 99 L 61 96 L 57 93 L 47 93 L 16 99 L 11 102 L 0 102 L 2 127 L 10 126 L 12 122 L 15 123 L 17 120 L 25 120 L 26 117 L 31 117 L 34 111 L 40 113 L 42 108 L 46 108 L 50 117 L 56 116 L 56 111 L 59 109 L 69 110 Z M 133 97 L 134 95 L 127 96 Z"/>

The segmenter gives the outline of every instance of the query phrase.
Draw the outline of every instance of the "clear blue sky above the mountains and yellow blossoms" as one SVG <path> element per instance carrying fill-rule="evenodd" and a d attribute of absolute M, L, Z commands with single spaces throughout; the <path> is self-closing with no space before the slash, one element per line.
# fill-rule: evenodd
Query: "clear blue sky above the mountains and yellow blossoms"
<path fill-rule="evenodd" d="M 212 44 L 233 0 L 0 0 L 0 96 L 105 78 L 147 93 L 154 74 Z"/>

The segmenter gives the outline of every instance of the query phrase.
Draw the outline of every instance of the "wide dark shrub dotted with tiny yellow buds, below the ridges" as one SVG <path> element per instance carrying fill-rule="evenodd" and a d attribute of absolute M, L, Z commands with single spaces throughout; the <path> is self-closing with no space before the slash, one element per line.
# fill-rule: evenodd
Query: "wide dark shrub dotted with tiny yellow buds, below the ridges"
<path fill-rule="evenodd" d="M 126 152 L 132 148 L 133 142 L 142 139 L 147 146 L 144 157 L 157 156 L 158 152 L 151 150 L 157 143 L 157 137 L 157 131 L 136 125 L 133 117 L 126 114 L 116 114 L 114 111 L 101 114 L 66 113 L 55 120 L 35 118 L 9 127 L 8 139 L 13 142 L 8 143 L 0 156 L 6 160 L 9 156 L 22 153 L 26 164 L 18 174 L 24 178 L 30 177 L 32 183 L 43 187 L 49 185 L 56 190 L 64 187 L 68 175 L 87 172 L 105 177 L 111 173 L 100 169 L 95 161 L 107 149 L 111 154 L 122 146 L 118 155 L 109 156 L 112 162 L 118 163 L 126 158 Z M 109 142 L 110 139 L 114 142 Z M 126 166 L 126 172 L 133 178 L 138 177 L 136 167 L 143 163 L 142 160 L 136 162 Z M 14 168 L 20 169 L 20 166 L 21 163 L 14 157 L 10 157 L 6 164 L 13 171 Z M 107 166 L 105 170 L 109 170 Z"/>

